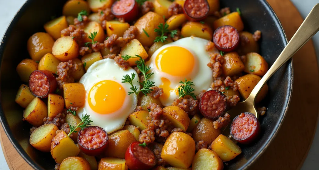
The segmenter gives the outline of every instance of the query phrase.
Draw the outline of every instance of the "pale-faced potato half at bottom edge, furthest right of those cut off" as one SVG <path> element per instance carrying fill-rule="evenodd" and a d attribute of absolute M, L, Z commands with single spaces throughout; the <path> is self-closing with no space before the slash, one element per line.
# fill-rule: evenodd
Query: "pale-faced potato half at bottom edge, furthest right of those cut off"
<path fill-rule="evenodd" d="M 223 161 L 218 157 L 218 155 L 214 151 L 205 148 L 200 149 L 196 153 L 192 163 L 193 170 L 222 170 L 223 168 Z"/>

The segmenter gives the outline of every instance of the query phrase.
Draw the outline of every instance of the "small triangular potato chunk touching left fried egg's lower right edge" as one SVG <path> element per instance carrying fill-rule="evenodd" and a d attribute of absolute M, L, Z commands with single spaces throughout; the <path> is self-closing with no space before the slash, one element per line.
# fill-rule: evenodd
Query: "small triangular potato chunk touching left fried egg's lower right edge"
<path fill-rule="evenodd" d="M 129 121 L 131 125 L 134 125 L 137 127 L 139 131 L 142 131 L 147 128 L 147 119 L 146 117 L 148 116 L 148 111 L 137 111 L 129 116 Z"/>

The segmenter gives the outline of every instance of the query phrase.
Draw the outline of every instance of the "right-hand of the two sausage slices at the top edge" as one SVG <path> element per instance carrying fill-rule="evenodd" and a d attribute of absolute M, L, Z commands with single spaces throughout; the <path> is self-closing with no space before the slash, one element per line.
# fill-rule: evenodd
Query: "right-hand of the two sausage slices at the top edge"
<path fill-rule="evenodd" d="M 209 4 L 207 0 L 186 0 L 183 11 L 189 21 L 200 21 L 208 16 Z"/>

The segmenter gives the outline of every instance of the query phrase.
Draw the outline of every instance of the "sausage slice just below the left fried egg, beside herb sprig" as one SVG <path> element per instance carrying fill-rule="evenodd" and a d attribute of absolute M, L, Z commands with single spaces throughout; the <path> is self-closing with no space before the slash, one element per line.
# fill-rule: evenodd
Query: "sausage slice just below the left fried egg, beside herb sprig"
<path fill-rule="evenodd" d="M 78 133 L 79 148 L 87 155 L 96 156 L 108 147 L 108 133 L 98 126 L 89 126 Z"/>

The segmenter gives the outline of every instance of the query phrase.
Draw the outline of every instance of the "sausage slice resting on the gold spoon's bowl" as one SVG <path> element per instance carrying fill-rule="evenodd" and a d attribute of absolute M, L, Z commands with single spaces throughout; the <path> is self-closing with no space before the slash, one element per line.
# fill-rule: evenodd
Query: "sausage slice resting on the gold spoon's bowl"
<path fill-rule="evenodd" d="M 241 144 L 253 142 L 260 132 L 260 123 L 252 113 L 241 113 L 230 125 L 230 134 Z"/>

